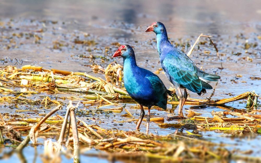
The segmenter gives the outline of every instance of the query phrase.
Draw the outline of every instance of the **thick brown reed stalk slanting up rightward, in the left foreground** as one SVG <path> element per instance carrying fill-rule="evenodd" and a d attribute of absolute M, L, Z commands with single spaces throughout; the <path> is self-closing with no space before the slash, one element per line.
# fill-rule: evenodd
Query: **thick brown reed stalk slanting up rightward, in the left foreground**
<path fill-rule="evenodd" d="M 52 114 L 54 114 L 55 112 L 57 112 L 58 110 L 61 110 L 62 109 L 62 105 L 58 105 L 56 108 L 54 108 L 54 110 L 50 111 L 48 114 L 46 114 L 46 116 L 41 119 L 37 126 L 34 128 L 34 133 L 40 128 L 41 124 L 44 123 L 44 121 L 49 118 Z M 33 128 L 31 128 L 33 129 Z M 27 144 L 30 142 L 30 136 L 29 134 L 26 136 L 26 138 L 19 144 L 18 147 L 16 147 L 16 151 L 21 151 L 23 150 L 23 148 L 25 148 L 27 146 Z"/>

